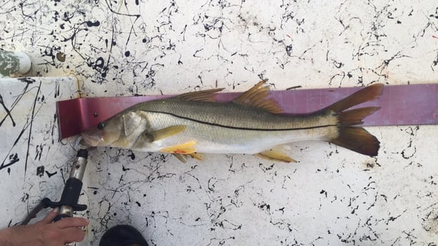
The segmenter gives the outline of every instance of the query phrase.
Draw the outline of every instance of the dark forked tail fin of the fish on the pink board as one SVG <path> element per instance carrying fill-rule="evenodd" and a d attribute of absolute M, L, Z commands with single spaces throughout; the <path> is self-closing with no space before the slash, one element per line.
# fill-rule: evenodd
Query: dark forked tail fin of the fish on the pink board
<path fill-rule="evenodd" d="M 347 109 L 377 98 L 382 90 L 382 84 L 374 84 L 325 108 L 336 113 L 339 121 L 337 137 L 329 139 L 329 142 L 363 155 L 376 156 L 380 148 L 379 140 L 364 128 L 354 125 L 361 125 L 364 118 L 378 111 L 380 107 Z"/>

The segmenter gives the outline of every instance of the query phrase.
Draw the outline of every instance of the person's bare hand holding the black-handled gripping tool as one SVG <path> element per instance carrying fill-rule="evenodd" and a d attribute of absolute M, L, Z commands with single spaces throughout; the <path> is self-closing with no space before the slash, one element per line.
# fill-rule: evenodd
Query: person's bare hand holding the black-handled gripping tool
<path fill-rule="evenodd" d="M 58 210 L 49 212 L 34 225 L 18 225 L 0 231 L 0 245 L 5 246 L 65 246 L 70 242 L 84 240 L 85 232 L 80 227 L 88 225 L 81 217 L 66 217 L 52 223 Z"/>

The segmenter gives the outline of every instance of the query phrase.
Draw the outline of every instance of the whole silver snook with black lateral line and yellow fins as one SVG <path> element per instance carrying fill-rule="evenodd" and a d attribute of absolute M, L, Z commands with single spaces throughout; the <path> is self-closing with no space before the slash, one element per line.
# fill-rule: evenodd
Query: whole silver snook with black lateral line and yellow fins
<path fill-rule="evenodd" d="M 111 146 L 145 152 L 164 152 L 179 160 L 199 153 L 246 153 L 268 160 L 294 162 L 282 148 L 302 140 L 323 140 L 357 153 L 375 156 L 379 140 L 362 127 L 362 119 L 379 109 L 350 109 L 382 94 L 374 84 L 320 111 L 282 113 L 269 97 L 266 81 L 227 103 L 214 102 L 222 89 L 184 93 L 147 101 L 82 133 L 89 146 Z"/>

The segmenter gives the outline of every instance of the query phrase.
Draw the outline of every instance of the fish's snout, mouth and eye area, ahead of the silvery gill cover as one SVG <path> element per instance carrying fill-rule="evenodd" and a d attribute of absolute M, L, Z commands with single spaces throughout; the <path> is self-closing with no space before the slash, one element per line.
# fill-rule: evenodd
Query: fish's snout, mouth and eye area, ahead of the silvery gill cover
<path fill-rule="evenodd" d="M 99 122 L 94 128 L 81 133 L 82 144 L 88 146 L 113 146 L 121 137 L 123 118 L 116 115 Z"/>

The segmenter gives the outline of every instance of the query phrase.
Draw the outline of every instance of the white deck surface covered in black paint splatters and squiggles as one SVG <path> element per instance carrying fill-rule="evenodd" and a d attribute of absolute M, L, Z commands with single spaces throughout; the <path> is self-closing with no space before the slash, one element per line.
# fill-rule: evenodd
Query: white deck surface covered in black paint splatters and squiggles
<path fill-rule="evenodd" d="M 242 92 L 263 78 L 273 91 L 438 81 L 435 0 L 0 5 L 0 48 L 29 54 L 26 76 L 73 75 L 83 97 Z M 23 88 L 0 91 L 16 123 L 7 116 L 0 125 L 1 227 L 44 197 L 59 199 L 76 155 L 74 138 L 56 136 L 52 99 L 64 89 L 41 86 L 36 96 L 38 85 L 29 85 L 34 94 L 20 111 L 13 104 Z M 436 245 L 438 125 L 367 130 L 381 141 L 376 158 L 328 143 L 292 145 L 294 164 L 251 155 L 182 164 L 166 154 L 90 150 L 81 195 L 89 210 L 77 216 L 91 224 L 77 245 L 98 245 L 117 224 L 159 246 Z"/>

